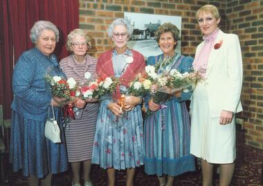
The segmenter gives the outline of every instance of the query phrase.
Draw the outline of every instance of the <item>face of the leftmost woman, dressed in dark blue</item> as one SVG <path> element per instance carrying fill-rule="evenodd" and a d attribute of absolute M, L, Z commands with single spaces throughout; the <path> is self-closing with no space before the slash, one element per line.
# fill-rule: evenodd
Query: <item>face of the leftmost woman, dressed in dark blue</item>
<path fill-rule="evenodd" d="M 35 43 L 35 47 L 44 55 L 50 56 L 55 50 L 55 33 L 51 30 L 43 30 Z"/>

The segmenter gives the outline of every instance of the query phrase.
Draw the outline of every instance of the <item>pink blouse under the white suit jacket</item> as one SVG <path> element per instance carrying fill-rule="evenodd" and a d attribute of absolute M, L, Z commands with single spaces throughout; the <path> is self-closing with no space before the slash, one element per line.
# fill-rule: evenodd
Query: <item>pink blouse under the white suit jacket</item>
<path fill-rule="evenodd" d="M 203 40 L 205 40 L 205 44 L 203 45 L 203 49 L 197 53 L 194 58 L 193 67 L 194 70 L 200 72 L 201 76 L 206 77 L 206 69 L 208 66 L 208 58 L 210 56 L 210 52 L 213 49 L 213 45 L 215 43 L 215 39 L 217 38 L 217 34 L 219 33 L 219 28 L 215 29 L 213 33 L 210 35 L 204 35 Z"/>

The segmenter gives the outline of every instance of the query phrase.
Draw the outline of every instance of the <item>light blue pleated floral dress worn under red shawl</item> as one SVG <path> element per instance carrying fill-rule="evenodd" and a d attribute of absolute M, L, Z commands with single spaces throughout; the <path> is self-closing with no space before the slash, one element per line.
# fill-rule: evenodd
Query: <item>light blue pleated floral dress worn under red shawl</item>
<path fill-rule="evenodd" d="M 120 75 L 127 68 L 125 58 L 132 56 L 129 49 L 126 55 L 113 53 L 114 75 Z M 120 91 L 125 94 L 126 87 Z M 124 117 L 116 115 L 107 108 L 111 96 L 104 96 L 100 103 L 96 134 L 93 144 L 93 164 L 100 164 L 103 169 L 129 169 L 143 164 L 143 118 L 140 105 L 126 112 Z"/>

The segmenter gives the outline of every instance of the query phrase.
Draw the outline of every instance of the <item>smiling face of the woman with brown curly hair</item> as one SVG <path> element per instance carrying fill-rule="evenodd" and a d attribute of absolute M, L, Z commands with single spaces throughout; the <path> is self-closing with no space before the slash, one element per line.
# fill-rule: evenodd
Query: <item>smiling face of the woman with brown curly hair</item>
<path fill-rule="evenodd" d="M 172 32 L 162 33 L 158 44 L 165 56 L 171 56 L 174 53 L 174 44 L 176 44 Z"/>

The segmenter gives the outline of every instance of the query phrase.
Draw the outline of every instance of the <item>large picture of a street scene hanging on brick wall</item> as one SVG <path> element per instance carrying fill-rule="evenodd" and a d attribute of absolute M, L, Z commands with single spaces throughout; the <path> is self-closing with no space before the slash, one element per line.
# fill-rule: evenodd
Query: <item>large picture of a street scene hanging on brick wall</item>
<path fill-rule="evenodd" d="M 131 35 L 127 46 L 130 49 L 139 51 L 145 58 L 158 56 L 162 53 L 154 37 L 157 28 L 161 24 L 171 22 L 176 25 L 179 28 L 181 37 L 181 17 L 179 16 L 125 12 L 124 18 L 134 26 L 134 33 Z M 181 53 L 181 40 L 178 42 L 175 51 Z"/>

